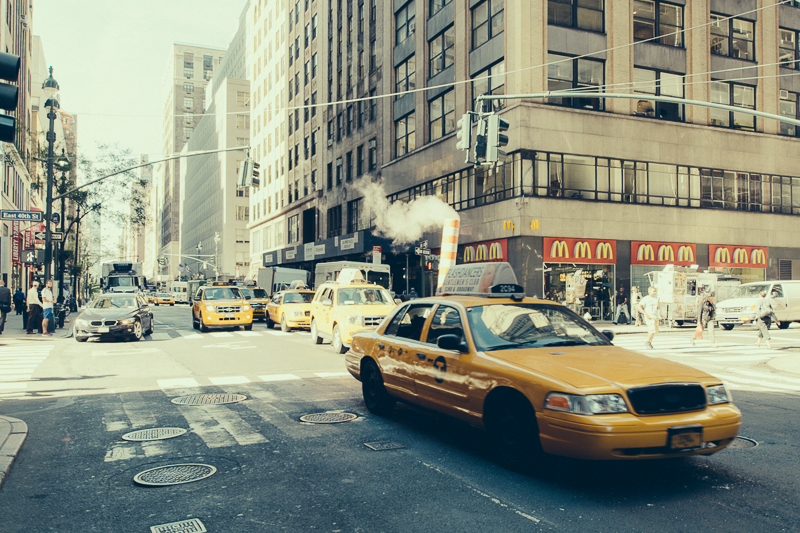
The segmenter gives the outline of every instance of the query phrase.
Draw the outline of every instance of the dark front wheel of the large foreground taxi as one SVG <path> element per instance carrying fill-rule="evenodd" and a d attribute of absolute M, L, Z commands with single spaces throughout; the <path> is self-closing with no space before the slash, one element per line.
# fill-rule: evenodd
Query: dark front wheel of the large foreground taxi
<path fill-rule="evenodd" d="M 533 470 L 544 452 L 530 403 L 509 395 L 487 406 L 484 416 L 497 462 L 511 470 Z"/>

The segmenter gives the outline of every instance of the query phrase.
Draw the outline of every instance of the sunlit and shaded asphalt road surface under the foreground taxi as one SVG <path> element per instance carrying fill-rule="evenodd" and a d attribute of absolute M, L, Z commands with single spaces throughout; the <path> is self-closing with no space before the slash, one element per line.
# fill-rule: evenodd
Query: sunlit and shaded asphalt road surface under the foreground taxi
<path fill-rule="evenodd" d="M 252 335 L 194 337 L 185 306 L 155 313 L 155 334 L 135 344 L 30 343 L 45 354 L 33 379 L 0 396 L 0 413 L 29 426 L 0 491 L 0 530 L 146 532 L 189 518 L 234 533 L 800 529 L 796 392 L 769 383 L 735 391 L 741 435 L 758 442 L 753 448 L 666 462 L 554 457 L 525 476 L 497 466 L 485 434 L 461 423 L 403 405 L 389 418 L 371 415 L 343 357 L 308 335 L 259 324 Z M 745 342 L 725 357 L 749 360 L 722 362 L 702 350 L 682 357 L 718 357 L 705 363 L 752 373 L 759 361 Z M 210 393 L 247 399 L 171 402 Z M 357 418 L 300 421 L 322 412 Z M 121 439 L 157 427 L 190 431 L 148 443 Z M 402 447 L 365 445 L 375 442 Z M 186 463 L 217 471 L 167 487 L 132 480 Z"/>

